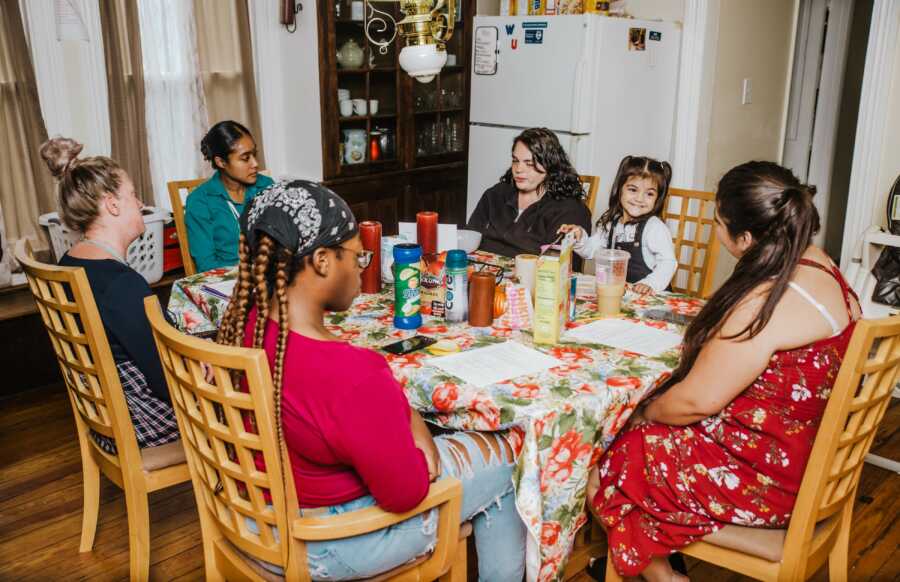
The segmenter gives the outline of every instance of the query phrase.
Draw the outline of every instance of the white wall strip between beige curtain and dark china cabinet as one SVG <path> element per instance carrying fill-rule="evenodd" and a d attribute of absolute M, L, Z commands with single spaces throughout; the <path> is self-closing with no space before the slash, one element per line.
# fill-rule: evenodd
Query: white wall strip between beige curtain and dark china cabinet
<path fill-rule="evenodd" d="M 272 0 L 250 0 L 266 164 L 273 176 L 321 180 L 317 8 L 315 2 L 303 2 L 297 30 L 289 33 L 279 22 L 278 5 Z"/>

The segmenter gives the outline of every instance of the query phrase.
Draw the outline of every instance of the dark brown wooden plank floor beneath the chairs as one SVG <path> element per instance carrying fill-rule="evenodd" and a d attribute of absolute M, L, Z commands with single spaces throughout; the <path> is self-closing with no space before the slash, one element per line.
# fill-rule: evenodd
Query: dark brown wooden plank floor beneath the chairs
<path fill-rule="evenodd" d="M 74 421 L 61 386 L 0 399 L 0 580 L 125 580 L 125 500 L 103 481 L 100 524 L 92 552 L 78 552 L 81 463 Z M 900 459 L 900 403 L 876 443 Z M 151 495 L 153 580 L 200 580 L 203 554 L 190 484 Z M 900 580 L 900 476 L 866 465 L 854 511 L 849 579 Z M 689 559 L 692 580 L 745 580 Z M 815 580 L 827 580 L 817 573 Z M 587 575 L 576 578 L 587 582 Z"/>

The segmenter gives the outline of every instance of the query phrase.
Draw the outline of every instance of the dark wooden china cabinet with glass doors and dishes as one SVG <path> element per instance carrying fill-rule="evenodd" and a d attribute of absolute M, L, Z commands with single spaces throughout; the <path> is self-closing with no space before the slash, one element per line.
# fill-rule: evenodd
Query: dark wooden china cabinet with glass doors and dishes
<path fill-rule="evenodd" d="M 457 4 L 459 16 L 447 42 L 456 64 L 445 65 L 427 84 L 400 68 L 400 38 L 384 54 L 369 42 L 365 21 L 352 18 L 358 14 L 352 14 L 350 0 L 318 5 L 323 182 L 347 200 L 357 219 L 380 221 L 385 234 L 396 233 L 398 221 L 414 221 L 419 210 L 436 210 L 441 222 L 463 225 L 474 0 Z M 400 20 L 396 2 L 374 6 Z M 346 52 L 356 59 L 342 59 L 346 66 L 338 60 L 351 40 L 362 49 L 360 66 L 354 66 L 359 59 L 352 47 Z M 366 111 L 341 115 L 338 89 L 365 100 Z M 370 100 L 378 101 L 374 113 Z M 355 158 L 347 155 L 351 132 L 355 143 L 365 138 L 364 152 L 353 148 Z"/>

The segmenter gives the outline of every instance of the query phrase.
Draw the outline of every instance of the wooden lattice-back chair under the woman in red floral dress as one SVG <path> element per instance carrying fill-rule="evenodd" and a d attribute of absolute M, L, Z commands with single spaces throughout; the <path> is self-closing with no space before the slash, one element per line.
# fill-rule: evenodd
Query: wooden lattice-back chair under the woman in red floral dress
<path fill-rule="evenodd" d="M 847 580 L 853 500 L 900 372 L 900 316 L 857 322 L 786 530 L 728 525 L 681 550 L 758 580 Z M 607 562 L 606 580 L 621 580 Z"/>

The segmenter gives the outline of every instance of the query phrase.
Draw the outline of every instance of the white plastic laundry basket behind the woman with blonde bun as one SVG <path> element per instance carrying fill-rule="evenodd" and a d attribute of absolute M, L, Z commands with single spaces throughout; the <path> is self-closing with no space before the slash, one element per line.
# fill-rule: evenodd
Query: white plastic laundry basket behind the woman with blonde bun
<path fill-rule="evenodd" d="M 163 225 L 172 219 L 172 213 L 153 206 L 145 206 L 141 212 L 147 228 L 128 247 L 125 260 L 132 269 L 144 276 L 147 283 L 156 283 L 162 279 L 163 274 Z M 56 212 L 42 214 L 38 222 L 47 229 L 57 261 L 83 237 L 80 232 L 69 230 Z"/>

